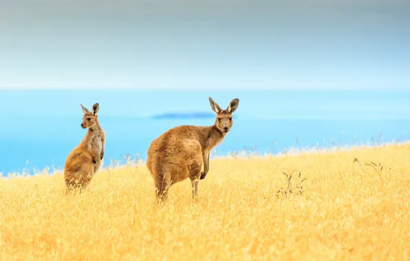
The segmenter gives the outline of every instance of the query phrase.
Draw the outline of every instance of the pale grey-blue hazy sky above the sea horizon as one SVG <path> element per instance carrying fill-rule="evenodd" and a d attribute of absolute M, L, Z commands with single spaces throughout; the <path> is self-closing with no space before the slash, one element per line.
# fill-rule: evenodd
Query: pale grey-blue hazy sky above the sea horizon
<path fill-rule="evenodd" d="M 409 28 L 404 0 L 0 0 L 0 88 L 410 89 Z"/>

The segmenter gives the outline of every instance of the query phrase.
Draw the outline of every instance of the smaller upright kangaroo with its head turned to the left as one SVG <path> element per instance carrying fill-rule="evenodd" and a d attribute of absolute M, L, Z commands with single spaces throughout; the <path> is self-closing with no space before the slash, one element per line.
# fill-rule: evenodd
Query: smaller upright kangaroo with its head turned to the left
<path fill-rule="evenodd" d="M 68 190 L 86 188 L 93 175 L 100 169 L 104 157 L 105 133 L 98 122 L 99 104 L 88 111 L 83 104 L 82 128 L 88 128 L 83 141 L 68 155 L 64 166 L 65 185 Z"/>

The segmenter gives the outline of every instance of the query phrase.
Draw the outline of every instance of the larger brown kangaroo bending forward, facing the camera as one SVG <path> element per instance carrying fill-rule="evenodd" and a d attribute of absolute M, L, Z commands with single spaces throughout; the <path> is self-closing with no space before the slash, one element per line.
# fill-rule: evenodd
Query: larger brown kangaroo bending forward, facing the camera
<path fill-rule="evenodd" d="M 232 113 L 239 100 L 230 102 L 226 110 L 209 98 L 217 114 L 215 124 L 208 127 L 178 126 L 154 139 L 147 152 L 147 167 L 155 181 L 158 203 L 166 199 L 170 185 L 191 179 L 192 196 L 197 197 L 199 178 L 209 170 L 209 153 L 220 144 L 232 126 Z"/>

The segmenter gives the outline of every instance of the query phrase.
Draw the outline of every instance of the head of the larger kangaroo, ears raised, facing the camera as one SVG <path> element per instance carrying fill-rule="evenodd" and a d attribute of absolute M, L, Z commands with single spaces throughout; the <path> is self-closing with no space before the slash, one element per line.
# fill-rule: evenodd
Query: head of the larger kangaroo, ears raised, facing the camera
<path fill-rule="evenodd" d="M 232 113 L 238 108 L 239 100 L 233 99 L 226 110 L 222 110 L 211 97 L 209 98 L 209 102 L 211 103 L 211 109 L 217 114 L 215 126 L 219 131 L 222 131 L 222 133 L 228 133 L 233 124 Z"/>

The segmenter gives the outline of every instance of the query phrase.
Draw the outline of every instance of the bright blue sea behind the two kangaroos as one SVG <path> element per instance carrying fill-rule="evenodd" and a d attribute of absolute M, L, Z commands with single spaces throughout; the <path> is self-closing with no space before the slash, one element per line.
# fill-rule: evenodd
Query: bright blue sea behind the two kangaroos
<path fill-rule="evenodd" d="M 222 108 L 239 98 L 234 124 L 215 155 L 241 150 L 406 141 L 410 91 L 0 91 L 0 172 L 62 169 L 83 139 L 80 104 L 100 104 L 105 165 L 145 159 L 155 137 L 182 124 L 210 126 L 212 97 Z M 136 156 L 138 155 L 138 156 Z"/>

